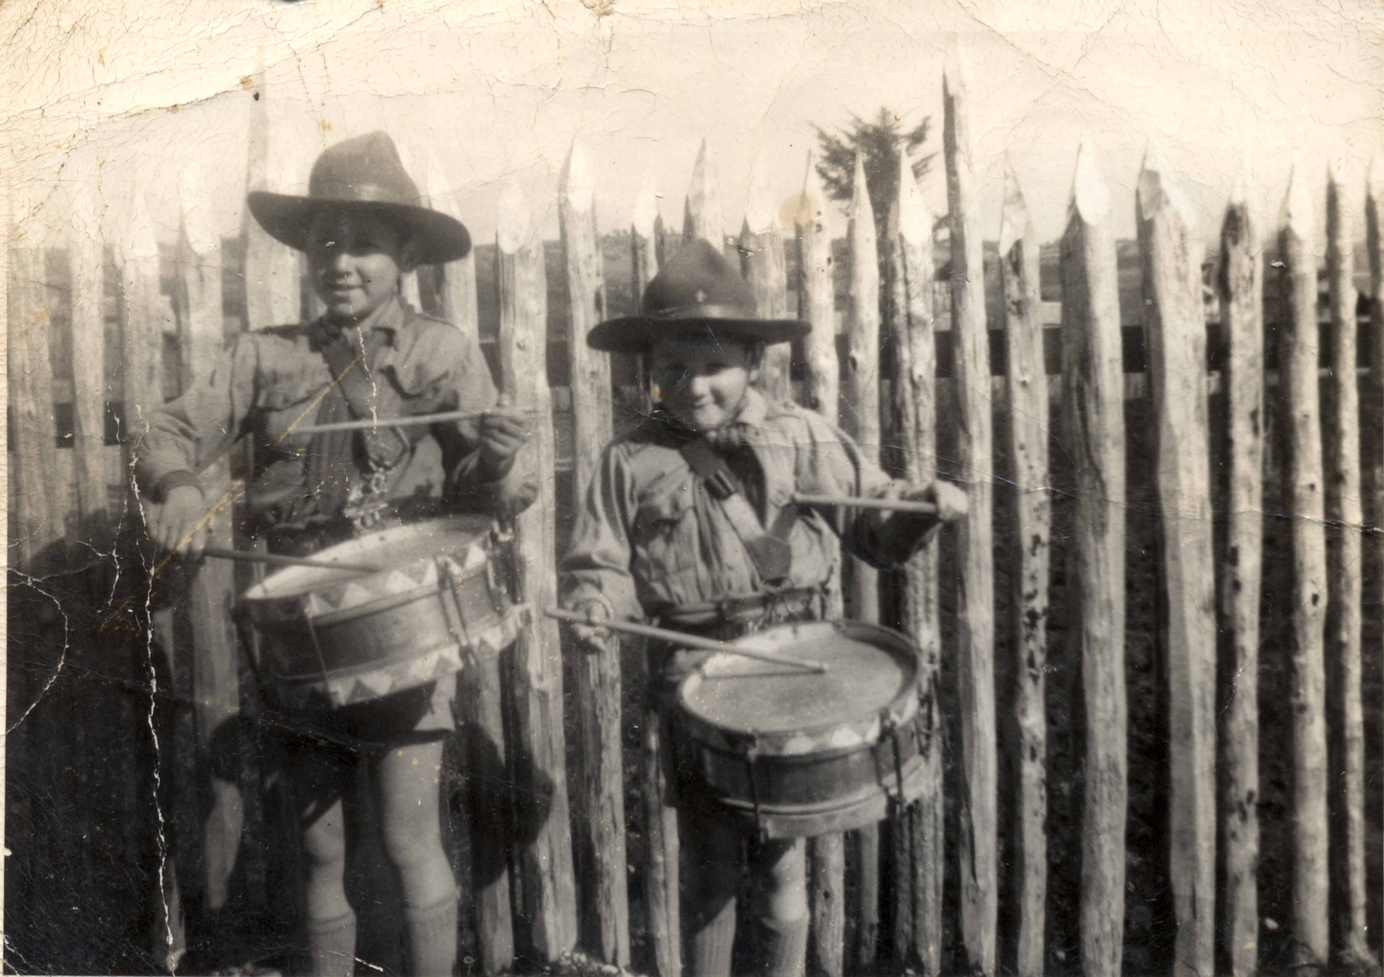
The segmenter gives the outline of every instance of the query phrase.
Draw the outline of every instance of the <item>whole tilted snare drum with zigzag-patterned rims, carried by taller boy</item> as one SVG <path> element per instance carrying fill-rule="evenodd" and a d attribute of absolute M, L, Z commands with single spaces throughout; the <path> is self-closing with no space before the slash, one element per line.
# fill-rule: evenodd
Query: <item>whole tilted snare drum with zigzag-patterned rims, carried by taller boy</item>
<path fill-rule="evenodd" d="M 375 573 L 292 566 L 251 587 L 238 616 L 256 668 L 291 703 L 346 706 L 446 678 L 522 624 L 495 574 L 484 516 L 371 533 L 313 555 Z"/>

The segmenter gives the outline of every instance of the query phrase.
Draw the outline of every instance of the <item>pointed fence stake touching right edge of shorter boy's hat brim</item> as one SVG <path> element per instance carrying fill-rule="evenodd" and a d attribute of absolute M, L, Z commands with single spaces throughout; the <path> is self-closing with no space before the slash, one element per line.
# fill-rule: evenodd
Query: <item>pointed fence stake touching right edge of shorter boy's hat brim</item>
<path fill-rule="evenodd" d="M 840 364 L 836 358 L 835 286 L 832 282 L 832 237 L 826 228 L 826 192 L 821 174 L 807 158 L 797 235 L 801 259 L 799 314 L 812 324 L 804 339 L 807 349 L 807 383 L 804 405 L 832 423 L 837 421 Z M 840 566 L 840 547 L 835 537 L 826 541 L 829 559 Z M 833 578 L 839 578 L 835 574 Z M 826 595 L 826 614 L 841 616 L 841 591 L 833 587 Z M 846 942 L 846 848 L 841 834 L 810 839 L 808 905 L 812 916 L 812 956 L 819 973 L 840 977 Z"/>

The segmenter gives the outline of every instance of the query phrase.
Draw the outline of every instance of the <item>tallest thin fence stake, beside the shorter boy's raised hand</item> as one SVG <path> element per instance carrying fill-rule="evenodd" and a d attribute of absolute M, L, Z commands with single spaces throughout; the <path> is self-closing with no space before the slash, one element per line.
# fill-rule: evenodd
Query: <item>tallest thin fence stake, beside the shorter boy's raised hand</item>
<path fill-rule="evenodd" d="M 943 79 L 943 145 L 951 210 L 951 296 L 956 354 L 956 457 L 970 515 L 956 523 L 960 567 L 962 941 L 972 970 L 995 973 L 998 911 L 995 812 L 995 581 L 991 526 L 990 339 L 981 263 L 978 199 L 972 172 L 970 122 L 960 50 L 948 51 Z"/>

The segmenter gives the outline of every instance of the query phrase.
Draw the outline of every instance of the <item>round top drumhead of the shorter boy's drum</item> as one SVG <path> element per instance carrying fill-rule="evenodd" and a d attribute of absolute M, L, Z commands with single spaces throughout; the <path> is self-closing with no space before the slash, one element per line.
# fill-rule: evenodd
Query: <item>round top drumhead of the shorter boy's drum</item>
<path fill-rule="evenodd" d="M 789 624 L 734 643 L 821 661 L 828 671 L 710 656 L 680 689 L 684 715 L 710 739 L 808 753 L 869 742 L 882 715 L 902 722 L 916 710 L 918 649 L 894 631 L 858 621 Z"/>

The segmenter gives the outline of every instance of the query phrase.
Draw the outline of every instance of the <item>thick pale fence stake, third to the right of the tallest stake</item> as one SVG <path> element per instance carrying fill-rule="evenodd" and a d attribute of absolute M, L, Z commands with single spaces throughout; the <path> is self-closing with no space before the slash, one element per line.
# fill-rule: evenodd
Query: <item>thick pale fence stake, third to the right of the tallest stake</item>
<path fill-rule="evenodd" d="M 1136 194 L 1145 336 L 1157 439 L 1160 639 L 1168 661 L 1174 971 L 1215 970 L 1215 567 L 1205 313 L 1196 216 L 1156 151 Z"/>

